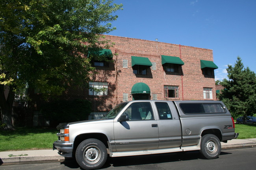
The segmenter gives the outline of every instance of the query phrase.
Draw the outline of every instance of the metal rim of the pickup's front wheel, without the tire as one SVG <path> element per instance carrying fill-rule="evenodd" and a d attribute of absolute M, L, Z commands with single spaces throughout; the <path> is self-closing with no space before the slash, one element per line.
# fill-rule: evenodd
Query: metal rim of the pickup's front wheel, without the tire
<path fill-rule="evenodd" d="M 100 160 L 100 150 L 96 146 L 89 146 L 83 152 L 83 159 L 89 164 L 95 164 Z"/>

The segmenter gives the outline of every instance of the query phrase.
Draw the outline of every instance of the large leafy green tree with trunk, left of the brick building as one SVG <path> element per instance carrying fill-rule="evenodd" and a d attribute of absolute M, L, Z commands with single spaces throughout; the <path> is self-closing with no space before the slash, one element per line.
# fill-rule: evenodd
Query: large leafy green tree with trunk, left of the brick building
<path fill-rule="evenodd" d="M 0 110 L 13 129 L 15 91 L 25 86 L 61 94 L 67 85 L 85 85 L 94 68 L 88 48 L 109 48 L 102 34 L 113 31 L 113 0 L 1 0 Z M 5 87 L 9 93 L 5 97 Z"/>

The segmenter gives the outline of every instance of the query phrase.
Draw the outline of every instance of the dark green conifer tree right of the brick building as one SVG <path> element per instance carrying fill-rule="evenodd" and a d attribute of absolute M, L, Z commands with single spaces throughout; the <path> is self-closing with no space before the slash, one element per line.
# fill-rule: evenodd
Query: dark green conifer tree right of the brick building
<path fill-rule="evenodd" d="M 224 90 L 219 99 L 225 103 L 233 117 L 253 115 L 256 113 L 255 73 L 248 67 L 244 68 L 240 57 L 237 57 L 234 67 L 228 65 L 227 71 L 229 80 L 224 79 L 220 83 Z"/>

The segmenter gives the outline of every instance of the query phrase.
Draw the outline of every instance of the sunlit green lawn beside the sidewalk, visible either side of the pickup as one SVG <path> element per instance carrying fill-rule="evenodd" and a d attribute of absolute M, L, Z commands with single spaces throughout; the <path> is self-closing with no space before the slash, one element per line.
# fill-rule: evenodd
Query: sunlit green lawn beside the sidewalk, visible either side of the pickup
<path fill-rule="evenodd" d="M 237 139 L 256 138 L 256 125 L 236 124 Z M 0 131 L 0 152 L 12 150 L 52 149 L 58 139 L 57 129 L 16 128 L 15 131 Z"/>

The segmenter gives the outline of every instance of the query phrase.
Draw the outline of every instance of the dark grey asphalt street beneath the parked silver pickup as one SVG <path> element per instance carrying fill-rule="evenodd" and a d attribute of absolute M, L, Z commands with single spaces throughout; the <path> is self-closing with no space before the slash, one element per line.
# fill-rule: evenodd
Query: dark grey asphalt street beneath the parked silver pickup
<path fill-rule="evenodd" d="M 198 151 L 131 157 L 109 157 L 106 170 L 252 170 L 255 169 L 256 147 L 222 150 L 217 159 L 203 159 Z M 0 170 L 80 170 L 75 160 L 3 164 Z"/>

